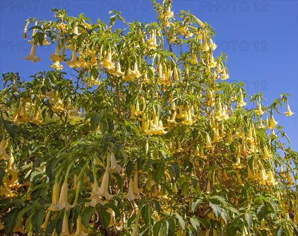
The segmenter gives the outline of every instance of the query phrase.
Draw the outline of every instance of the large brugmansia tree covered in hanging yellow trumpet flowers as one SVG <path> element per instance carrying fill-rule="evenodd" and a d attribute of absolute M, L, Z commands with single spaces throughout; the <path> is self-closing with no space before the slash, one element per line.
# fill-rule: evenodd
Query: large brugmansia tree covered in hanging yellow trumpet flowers
<path fill-rule="evenodd" d="M 2 235 L 295 235 L 297 152 L 273 117 L 288 94 L 247 97 L 208 23 L 152 4 L 150 24 L 26 21 L 25 59 L 57 48 L 53 70 L 3 74 Z"/>

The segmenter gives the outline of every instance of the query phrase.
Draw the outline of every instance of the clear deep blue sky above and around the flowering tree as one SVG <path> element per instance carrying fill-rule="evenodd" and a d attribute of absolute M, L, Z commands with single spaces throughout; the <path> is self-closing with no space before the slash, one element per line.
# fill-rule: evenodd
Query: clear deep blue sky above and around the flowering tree
<path fill-rule="evenodd" d="M 30 47 L 22 39 L 22 33 L 27 18 L 51 20 L 50 9 L 62 7 L 73 16 L 83 12 L 92 22 L 97 18 L 108 22 L 108 12 L 114 9 L 121 11 L 127 21 L 155 20 L 149 0 L 1 0 L 1 74 L 20 72 L 20 76 L 27 79 L 40 70 L 51 69 L 49 56 L 54 47 L 37 49 L 40 62 L 25 60 L 23 56 L 30 53 Z M 297 0 L 173 0 L 172 8 L 174 13 L 190 9 L 216 29 L 217 53 L 223 51 L 228 56 L 230 81 L 245 81 L 248 95 L 262 91 L 268 103 L 279 98 L 280 93 L 290 93 L 291 110 L 298 113 Z M 281 112 L 286 112 L 286 107 Z M 275 120 L 284 126 L 292 148 L 298 151 L 298 115 L 276 115 Z"/>

